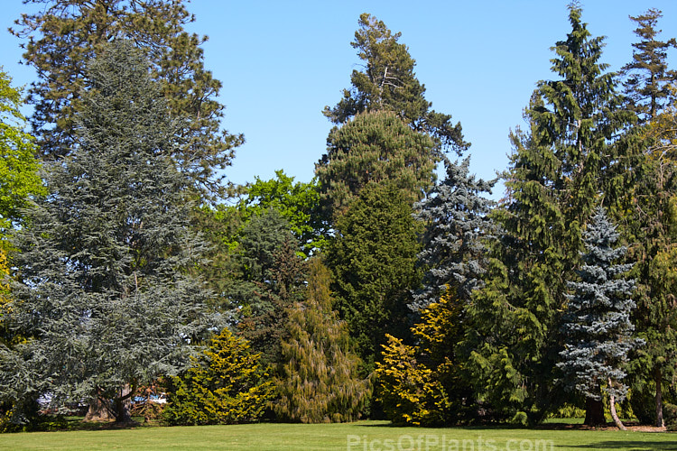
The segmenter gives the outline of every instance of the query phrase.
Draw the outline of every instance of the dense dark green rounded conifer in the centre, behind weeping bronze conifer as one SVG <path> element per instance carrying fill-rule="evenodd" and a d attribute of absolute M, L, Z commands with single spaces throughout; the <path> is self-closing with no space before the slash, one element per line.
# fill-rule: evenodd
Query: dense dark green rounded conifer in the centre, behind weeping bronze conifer
<path fill-rule="evenodd" d="M 392 185 L 367 185 L 338 218 L 327 250 L 335 308 L 348 323 L 366 373 L 386 333 L 409 336 L 407 305 L 421 273 L 416 268 L 420 227 L 407 200 Z"/>

